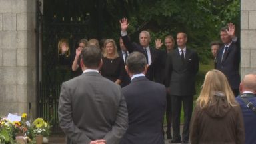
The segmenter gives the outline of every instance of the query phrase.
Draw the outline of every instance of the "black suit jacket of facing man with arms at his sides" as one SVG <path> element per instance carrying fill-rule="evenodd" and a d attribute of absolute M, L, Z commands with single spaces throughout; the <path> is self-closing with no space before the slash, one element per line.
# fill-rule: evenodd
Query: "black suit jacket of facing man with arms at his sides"
<path fill-rule="evenodd" d="M 179 49 L 168 53 L 166 61 L 165 86 L 171 95 L 195 95 L 195 75 L 199 70 L 199 57 L 192 49 L 186 49 L 184 62 Z"/>

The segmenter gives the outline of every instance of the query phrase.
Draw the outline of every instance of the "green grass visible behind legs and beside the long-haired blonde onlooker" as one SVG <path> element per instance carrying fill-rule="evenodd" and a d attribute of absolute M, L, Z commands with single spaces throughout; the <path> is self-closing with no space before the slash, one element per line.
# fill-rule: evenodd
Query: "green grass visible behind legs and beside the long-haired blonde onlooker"
<path fill-rule="evenodd" d="M 207 73 L 207 71 L 213 69 L 213 61 L 207 65 L 204 64 L 199 64 L 199 72 L 197 73 L 197 81 L 195 83 L 195 90 L 196 90 L 196 94 L 194 96 L 194 104 L 195 104 L 195 100 L 197 99 L 197 97 L 200 94 L 200 90 L 201 90 L 201 85 L 203 85 L 203 80 L 205 79 L 205 74 Z M 166 119 L 164 119 L 164 124 L 166 124 Z M 183 113 L 183 107 L 181 107 L 181 124 L 184 123 L 184 113 Z"/>

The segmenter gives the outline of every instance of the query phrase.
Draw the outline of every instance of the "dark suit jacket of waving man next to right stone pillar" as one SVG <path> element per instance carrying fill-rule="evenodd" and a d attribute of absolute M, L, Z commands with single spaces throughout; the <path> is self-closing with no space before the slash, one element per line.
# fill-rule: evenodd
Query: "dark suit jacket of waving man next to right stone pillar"
<path fill-rule="evenodd" d="M 222 45 L 219 51 L 217 52 L 217 69 L 223 72 L 227 80 L 229 81 L 229 85 L 232 89 L 239 89 L 240 85 L 240 74 L 239 74 L 239 63 L 240 63 L 240 43 L 237 39 L 237 42 L 232 42 L 227 51 L 226 57 L 223 57 L 223 61 L 221 61 L 221 57 L 225 46 Z"/>

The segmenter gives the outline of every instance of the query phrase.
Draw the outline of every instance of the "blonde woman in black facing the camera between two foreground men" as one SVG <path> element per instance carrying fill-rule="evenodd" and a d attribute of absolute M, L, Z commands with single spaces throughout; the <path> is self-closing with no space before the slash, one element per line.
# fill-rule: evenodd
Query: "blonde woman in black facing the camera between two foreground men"
<path fill-rule="evenodd" d="M 101 75 L 119 85 L 123 81 L 125 65 L 123 59 L 117 53 L 117 45 L 113 39 L 105 40 Z"/>

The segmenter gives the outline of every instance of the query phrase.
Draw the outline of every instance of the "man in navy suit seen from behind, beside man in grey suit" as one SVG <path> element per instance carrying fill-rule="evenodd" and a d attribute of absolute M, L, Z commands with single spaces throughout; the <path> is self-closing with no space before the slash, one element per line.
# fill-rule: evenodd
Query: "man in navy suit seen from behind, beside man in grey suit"
<path fill-rule="evenodd" d="M 163 116 L 166 106 L 164 85 L 149 81 L 145 55 L 133 52 L 127 58 L 125 69 L 131 83 L 122 88 L 127 102 L 129 127 L 121 144 L 163 144 Z"/>

